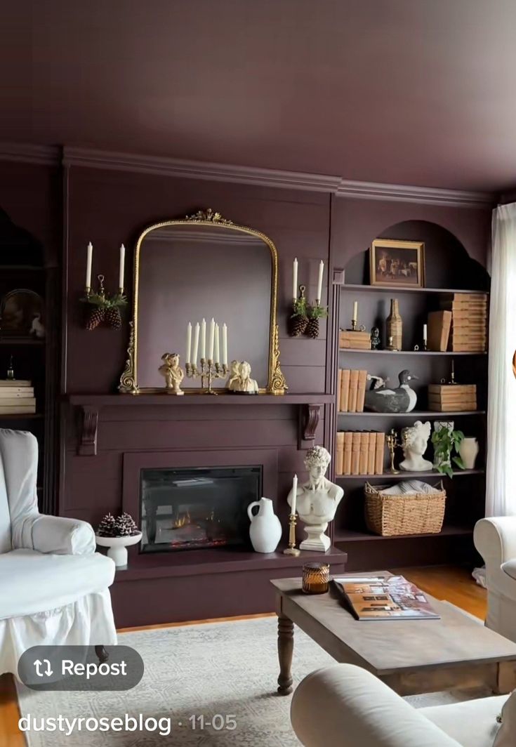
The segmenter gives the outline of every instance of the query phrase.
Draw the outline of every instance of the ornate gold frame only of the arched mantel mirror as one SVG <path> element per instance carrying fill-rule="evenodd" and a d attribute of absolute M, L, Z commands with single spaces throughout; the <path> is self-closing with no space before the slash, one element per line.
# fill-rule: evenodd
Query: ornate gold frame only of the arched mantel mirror
<path fill-rule="evenodd" d="M 129 322 L 129 343 L 127 348 L 127 360 L 125 368 L 120 376 L 118 390 L 121 394 L 160 394 L 162 389 L 159 388 L 140 388 L 137 380 L 137 362 L 138 362 L 138 290 L 140 279 L 140 250 L 143 239 L 150 232 L 170 226 L 185 226 L 192 223 L 198 226 L 220 226 L 221 228 L 231 229 L 243 232 L 256 238 L 260 238 L 267 244 L 270 249 L 272 259 L 272 279 L 270 293 L 270 341 L 269 341 L 269 366 L 267 386 L 261 388 L 258 394 L 285 394 L 287 383 L 283 376 L 279 362 L 279 327 L 277 323 L 278 307 L 278 251 L 273 241 L 261 231 L 249 228 L 249 226 L 240 226 L 233 223 L 232 220 L 223 218 L 222 215 L 213 211 L 199 210 L 193 215 L 187 215 L 182 220 L 164 220 L 161 223 L 154 223 L 146 228 L 139 236 L 134 249 L 134 273 L 133 273 L 133 303 L 132 318 Z M 199 394 L 199 389 L 185 389 L 185 394 Z M 221 390 L 220 393 L 222 393 Z"/>

